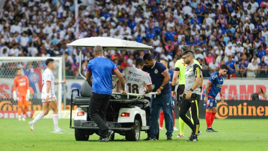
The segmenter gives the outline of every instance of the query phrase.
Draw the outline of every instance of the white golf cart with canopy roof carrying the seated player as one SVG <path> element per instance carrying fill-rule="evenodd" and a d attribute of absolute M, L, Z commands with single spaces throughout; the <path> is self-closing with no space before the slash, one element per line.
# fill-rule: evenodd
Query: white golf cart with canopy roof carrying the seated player
<path fill-rule="evenodd" d="M 107 38 L 107 37 L 91 37 L 75 40 L 67 46 L 75 46 L 80 50 L 80 64 L 79 73 L 81 74 L 81 47 L 95 47 L 100 45 L 103 51 L 106 50 L 148 50 L 150 53 L 151 46 L 142 43 Z M 113 94 L 109 102 L 109 107 L 106 114 L 106 125 L 114 132 L 124 135 L 127 141 L 139 141 L 140 131 L 145 131 L 148 134 L 150 130 L 149 116 L 150 116 L 150 97 L 145 95 L 155 95 L 157 93 L 149 94 L 131 94 L 128 93 L 122 96 L 121 93 L 114 93 L 116 86 L 116 76 L 113 76 Z M 73 98 L 73 92 L 77 91 L 78 96 Z M 88 141 L 90 135 L 98 134 L 99 127 L 88 116 L 88 105 L 90 101 L 92 87 L 85 80 L 79 89 L 72 90 L 71 94 L 71 114 L 70 114 L 70 128 L 75 129 L 76 141 Z M 72 126 L 72 108 L 74 105 L 79 105 L 76 109 L 75 119 Z M 157 139 L 159 138 L 159 130 Z M 114 135 L 112 140 L 114 139 Z"/>

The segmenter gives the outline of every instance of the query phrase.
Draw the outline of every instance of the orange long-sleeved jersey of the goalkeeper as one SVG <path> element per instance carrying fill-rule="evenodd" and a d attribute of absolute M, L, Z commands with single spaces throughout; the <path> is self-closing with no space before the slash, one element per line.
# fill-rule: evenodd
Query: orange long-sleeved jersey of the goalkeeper
<path fill-rule="evenodd" d="M 17 94 L 18 96 L 26 96 L 27 89 L 29 89 L 29 79 L 26 75 L 23 75 L 21 78 L 16 76 L 14 78 L 14 88 L 13 91 L 16 91 L 18 87 Z"/>

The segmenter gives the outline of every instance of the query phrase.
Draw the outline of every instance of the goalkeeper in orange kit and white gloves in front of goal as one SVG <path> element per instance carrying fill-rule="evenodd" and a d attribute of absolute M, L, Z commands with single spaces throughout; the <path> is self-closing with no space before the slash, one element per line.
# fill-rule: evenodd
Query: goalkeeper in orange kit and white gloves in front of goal
<path fill-rule="evenodd" d="M 16 93 L 17 88 L 18 91 Z M 17 69 L 17 76 L 14 78 L 13 100 L 18 101 L 19 121 L 21 120 L 25 121 L 27 106 L 29 103 L 29 97 L 30 97 L 29 79 L 26 75 L 22 75 L 21 69 Z M 21 115 L 22 106 L 23 106 L 23 115 Z"/>

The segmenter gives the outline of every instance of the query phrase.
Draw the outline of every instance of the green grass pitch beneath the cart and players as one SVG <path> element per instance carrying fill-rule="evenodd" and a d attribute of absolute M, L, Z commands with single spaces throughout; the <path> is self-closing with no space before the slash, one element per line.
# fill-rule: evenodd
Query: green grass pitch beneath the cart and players
<path fill-rule="evenodd" d="M 17 119 L 0 119 L 1 151 L 166 151 L 166 150 L 268 150 L 268 121 L 267 119 L 215 119 L 213 128 L 219 132 L 206 132 L 206 121 L 200 119 L 198 142 L 187 142 L 190 129 L 185 126 L 184 138 L 176 138 L 179 131 L 173 132 L 173 140 L 166 141 L 165 128 L 160 131 L 157 141 L 143 141 L 147 137 L 141 132 L 139 142 L 127 142 L 124 136 L 115 135 L 115 140 L 110 142 L 97 142 L 98 135 L 91 135 L 89 141 L 76 141 L 74 130 L 69 128 L 68 119 L 60 119 L 59 127 L 65 131 L 61 134 L 52 133 L 53 120 L 42 119 L 35 124 L 35 131 L 31 131 L 28 122 Z M 179 128 L 178 119 L 176 127 Z"/>

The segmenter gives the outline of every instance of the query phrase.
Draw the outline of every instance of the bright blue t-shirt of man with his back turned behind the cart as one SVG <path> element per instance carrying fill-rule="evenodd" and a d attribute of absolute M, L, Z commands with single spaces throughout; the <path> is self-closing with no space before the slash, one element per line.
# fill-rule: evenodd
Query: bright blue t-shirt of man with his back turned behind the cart
<path fill-rule="evenodd" d="M 87 72 L 92 72 L 92 92 L 97 94 L 112 94 L 112 72 L 116 65 L 100 55 L 88 62 Z"/>

